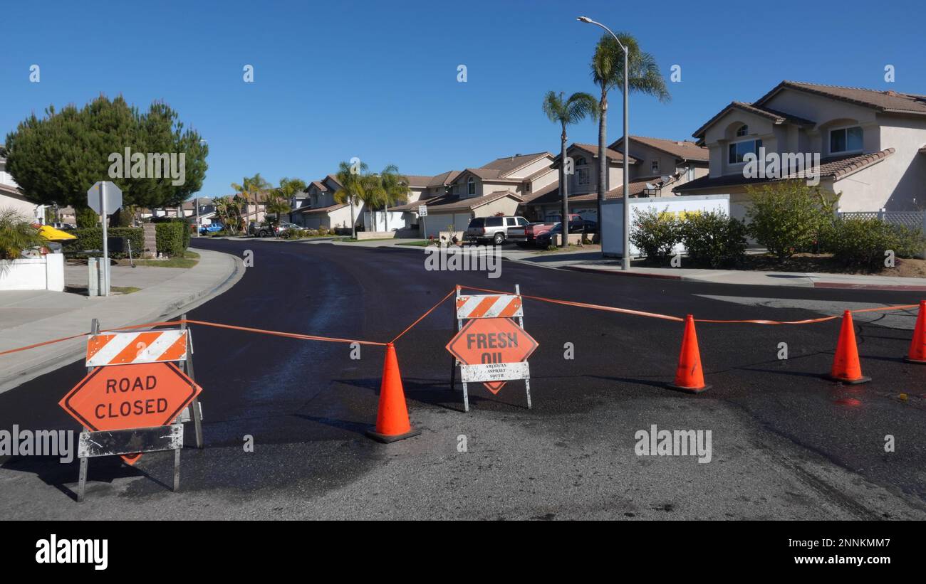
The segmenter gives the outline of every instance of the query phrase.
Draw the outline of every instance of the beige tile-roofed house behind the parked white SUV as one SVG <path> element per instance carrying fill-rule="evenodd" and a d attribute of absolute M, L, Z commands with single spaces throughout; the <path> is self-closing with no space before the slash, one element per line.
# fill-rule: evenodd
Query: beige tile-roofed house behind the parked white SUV
<path fill-rule="evenodd" d="M 394 211 L 418 213 L 419 205 L 427 206 L 428 216 L 419 220 L 422 235 L 436 236 L 451 225 L 454 231 L 463 231 L 473 217 L 516 214 L 526 196 L 557 182 L 552 163 L 550 152 L 496 158 L 456 176 L 447 175 L 444 194 L 410 201 L 394 207 Z M 440 176 L 444 175 L 433 178 Z"/>

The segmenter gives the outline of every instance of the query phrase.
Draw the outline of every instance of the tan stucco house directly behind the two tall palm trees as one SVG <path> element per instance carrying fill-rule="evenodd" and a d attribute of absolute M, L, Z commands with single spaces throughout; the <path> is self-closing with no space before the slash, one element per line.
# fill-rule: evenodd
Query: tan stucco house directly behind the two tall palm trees
<path fill-rule="evenodd" d="M 681 185 L 698 176 L 707 175 L 707 148 L 688 140 L 666 140 L 631 136 L 631 155 L 627 160 L 631 197 L 660 197 L 672 194 L 671 187 Z M 624 196 L 623 140 L 612 143 L 607 156 L 606 199 Z M 578 213 L 584 219 L 597 221 L 598 199 L 598 146 L 596 144 L 570 144 L 566 156 L 572 159 L 573 172 L 569 180 L 569 213 Z M 558 169 L 560 156 L 552 167 Z M 557 172 L 558 174 L 558 172 Z M 532 193 L 525 202 L 524 215 L 543 221 L 562 212 L 562 195 L 558 181 L 545 189 Z"/>

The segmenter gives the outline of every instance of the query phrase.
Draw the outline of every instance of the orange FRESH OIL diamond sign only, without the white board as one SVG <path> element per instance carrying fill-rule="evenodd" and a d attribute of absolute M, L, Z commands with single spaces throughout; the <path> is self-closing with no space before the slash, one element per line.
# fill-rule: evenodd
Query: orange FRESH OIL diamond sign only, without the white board
<path fill-rule="evenodd" d="M 464 365 L 519 363 L 531 356 L 537 341 L 511 319 L 473 319 L 447 343 L 450 354 Z M 483 383 L 497 394 L 505 382 Z"/>

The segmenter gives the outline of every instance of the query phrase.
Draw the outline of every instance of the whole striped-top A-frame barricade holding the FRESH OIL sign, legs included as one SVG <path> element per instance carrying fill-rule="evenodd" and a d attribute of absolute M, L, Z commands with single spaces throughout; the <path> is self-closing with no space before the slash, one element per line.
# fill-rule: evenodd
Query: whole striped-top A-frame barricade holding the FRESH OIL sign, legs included
<path fill-rule="evenodd" d="M 457 287 L 457 335 L 446 349 L 453 355 L 451 389 L 456 385 L 456 367 L 463 383 L 463 408 L 469 411 L 467 383 L 482 382 L 497 395 L 507 381 L 523 380 L 527 407 L 531 408 L 531 370 L 527 358 L 537 341 L 524 330 L 520 286 L 514 295 L 462 296 Z M 512 318 L 517 318 L 518 323 Z M 464 319 L 470 319 L 463 324 Z"/>

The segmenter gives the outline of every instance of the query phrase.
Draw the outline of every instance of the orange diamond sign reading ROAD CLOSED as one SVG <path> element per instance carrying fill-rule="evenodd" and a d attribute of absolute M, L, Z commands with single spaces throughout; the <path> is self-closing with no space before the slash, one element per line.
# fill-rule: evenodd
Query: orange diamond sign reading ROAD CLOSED
<path fill-rule="evenodd" d="M 109 365 L 91 371 L 58 405 L 93 432 L 166 426 L 203 388 L 173 363 Z M 142 455 L 122 458 L 134 464 Z"/>

